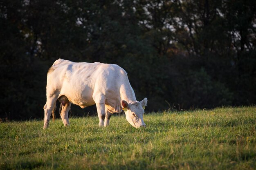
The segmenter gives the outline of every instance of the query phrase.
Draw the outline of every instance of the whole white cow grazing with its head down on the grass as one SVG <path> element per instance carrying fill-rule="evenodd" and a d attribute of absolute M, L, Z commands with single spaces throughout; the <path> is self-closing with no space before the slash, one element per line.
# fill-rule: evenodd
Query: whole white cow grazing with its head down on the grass
<path fill-rule="evenodd" d="M 107 126 L 111 115 L 123 109 L 133 127 L 146 127 L 143 114 L 148 99 L 136 100 L 126 71 L 116 64 L 58 59 L 47 73 L 46 97 L 44 129 L 49 126 L 57 99 L 64 126 L 69 125 L 68 111 L 73 103 L 81 108 L 96 104 L 99 126 Z"/>

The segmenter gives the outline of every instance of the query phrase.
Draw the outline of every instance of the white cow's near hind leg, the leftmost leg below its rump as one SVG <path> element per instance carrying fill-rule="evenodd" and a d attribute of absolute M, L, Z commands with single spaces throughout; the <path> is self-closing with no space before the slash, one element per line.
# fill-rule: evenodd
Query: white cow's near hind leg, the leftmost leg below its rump
<path fill-rule="evenodd" d="M 47 98 L 46 104 L 44 106 L 45 110 L 45 119 L 44 119 L 44 129 L 48 128 L 50 116 L 52 114 L 52 110 L 55 107 L 56 100 L 58 99 L 58 95 L 53 95 L 52 97 Z"/>

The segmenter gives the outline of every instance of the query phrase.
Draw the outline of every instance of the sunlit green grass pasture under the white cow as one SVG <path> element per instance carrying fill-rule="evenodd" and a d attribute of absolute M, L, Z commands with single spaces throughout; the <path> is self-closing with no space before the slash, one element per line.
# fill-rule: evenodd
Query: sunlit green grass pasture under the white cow
<path fill-rule="evenodd" d="M 0 123 L 0 169 L 253 170 L 256 108 L 216 108 L 144 115 L 146 129 L 124 116 Z"/>

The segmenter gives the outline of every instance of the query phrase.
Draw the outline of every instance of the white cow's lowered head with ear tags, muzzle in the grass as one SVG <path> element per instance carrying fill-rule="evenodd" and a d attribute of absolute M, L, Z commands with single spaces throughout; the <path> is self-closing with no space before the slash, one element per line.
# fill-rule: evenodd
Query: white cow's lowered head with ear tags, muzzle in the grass
<path fill-rule="evenodd" d="M 125 100 L 121 100 L 121 106 L 124 108 L 127 121 L 135 128 L 146 127 L 143 121 L 144 107 L 146 106 L 148 99 L 145 98 L 141 102 L 127 103 Z"/>

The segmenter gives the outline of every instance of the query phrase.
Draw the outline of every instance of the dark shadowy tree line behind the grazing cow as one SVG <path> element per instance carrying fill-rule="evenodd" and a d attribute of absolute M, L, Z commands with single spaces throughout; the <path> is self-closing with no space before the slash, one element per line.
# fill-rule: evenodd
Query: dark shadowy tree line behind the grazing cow
<path fill-rule="evenodd" d="M 2 0 L 0 117 L 43 117 L 58 58 L 118 64 L 148 111 L 256 104 L 255 44 L 253 0 Z"/>

